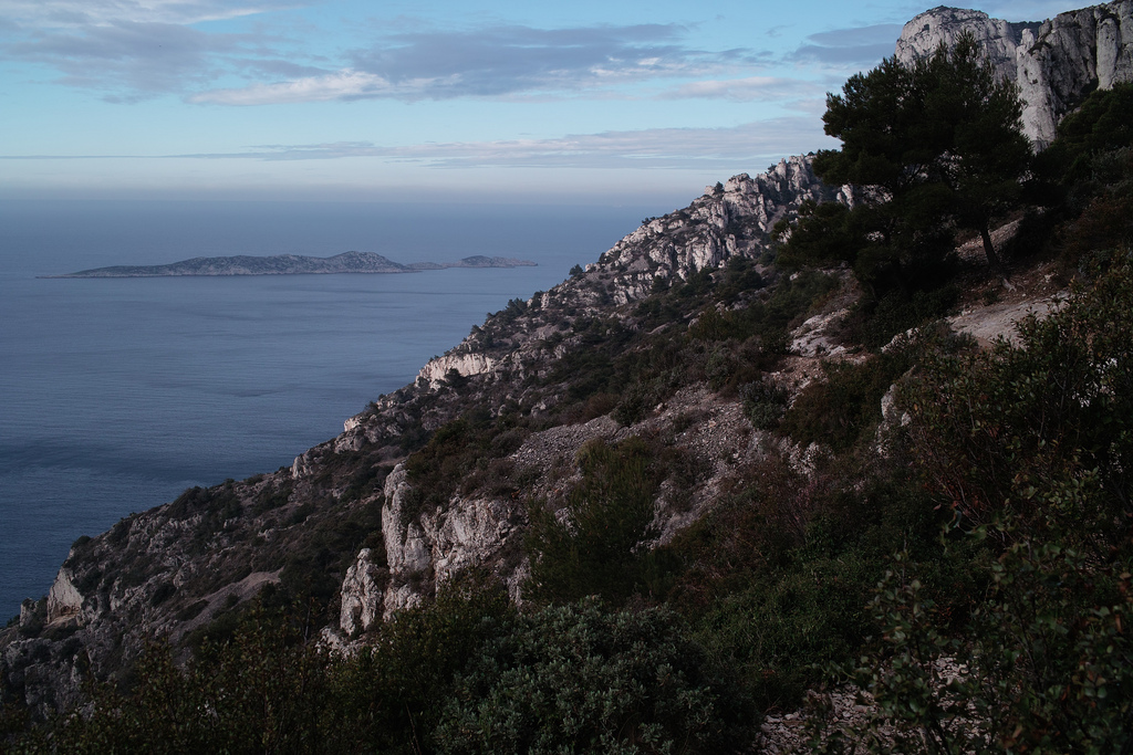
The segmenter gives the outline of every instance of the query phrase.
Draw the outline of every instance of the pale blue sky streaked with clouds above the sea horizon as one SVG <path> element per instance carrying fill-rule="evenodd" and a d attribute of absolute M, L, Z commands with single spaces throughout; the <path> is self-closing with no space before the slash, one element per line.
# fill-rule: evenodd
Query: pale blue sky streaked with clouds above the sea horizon
<path fill-rule="evenodd" d="M 0 200 L 687 201 L 836 147 L 826 93 L 925 9 L 0 0 Z"/>

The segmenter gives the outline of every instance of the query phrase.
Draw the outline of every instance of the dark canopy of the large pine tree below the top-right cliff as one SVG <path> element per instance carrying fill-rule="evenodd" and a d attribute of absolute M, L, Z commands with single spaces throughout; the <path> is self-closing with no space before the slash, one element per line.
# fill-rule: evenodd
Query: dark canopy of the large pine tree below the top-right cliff
<path fill-rule="evenodd" d="M 912 66 L 887 58 L 826 105 L 825 130 L 842 148 L 819 152 L 815 172 L 854 187 L 855 201 L 806 207 L 787 265 L 847 261 L 870 284 L 905 285 L 952 249 L 957 229 L 978 231 L 998 264 L 990 225 L 1017 203 L 1031 147 L 1015 85 L 973 37 Z"/>

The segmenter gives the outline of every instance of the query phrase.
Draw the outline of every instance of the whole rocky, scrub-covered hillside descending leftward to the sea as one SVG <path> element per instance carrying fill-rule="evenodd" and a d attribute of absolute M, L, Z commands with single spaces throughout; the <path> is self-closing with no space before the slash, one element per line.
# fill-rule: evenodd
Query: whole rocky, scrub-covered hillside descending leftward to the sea
<path fill-rule="evenodd" d="M 898 53 L 972 24 L 929 11 Z M 172 752 L 264 721 L 278 752 L 780 752 L 803 719 L 966 752 L 1083 715 L 1107 752 L 1133 710 L 1133 140 L 1093 127 L 1130 96 L 1064 121 L 994 218 L 998 267 L 956 224 L 888 288 L 791 263 L 816 207 L 867 200 L 786 158 L 511 301 L 291 467 L 80 538 L 0 634 L 7 730 L 97 680 L 92 728 L 59 731 Z M 238 687 L 256 704 L 216 702 Z"/>

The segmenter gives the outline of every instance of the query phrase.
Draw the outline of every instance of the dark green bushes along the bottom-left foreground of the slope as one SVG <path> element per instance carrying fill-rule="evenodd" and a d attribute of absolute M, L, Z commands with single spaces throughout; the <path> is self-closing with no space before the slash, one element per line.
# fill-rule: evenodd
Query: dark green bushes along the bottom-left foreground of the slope
<path fill-rule="evenodd" d="M 466 574 L 352 657 L 321 651 L 310 615 L 256 608 L 182 668 L 154 644 L 130 688 L 92 687 L 84 715 L 26 731 L 6 709 L 5 752 L 696 753 L 738 745 L 751 720 L 664 610 L 588 602 L 518 616 Z"/>

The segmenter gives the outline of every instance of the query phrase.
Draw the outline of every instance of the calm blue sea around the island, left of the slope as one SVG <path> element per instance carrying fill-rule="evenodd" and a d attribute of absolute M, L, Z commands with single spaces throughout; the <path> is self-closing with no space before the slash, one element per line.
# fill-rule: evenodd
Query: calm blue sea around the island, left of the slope
<path fill-rule="evenodd" d="M 0 621 L 71 543 L 187 487 L 290 465 L 513 298 L 656 206 L 0 201 Z M 44 278 L 201 256 L 375 251 L 536 267 Z"/>

